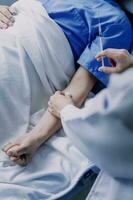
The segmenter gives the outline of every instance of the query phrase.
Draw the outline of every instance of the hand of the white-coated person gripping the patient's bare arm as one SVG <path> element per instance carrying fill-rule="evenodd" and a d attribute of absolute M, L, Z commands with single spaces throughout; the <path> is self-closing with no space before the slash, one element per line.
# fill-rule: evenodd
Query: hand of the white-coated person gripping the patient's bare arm
<path fill-rule="evenodd" d="M 50 97 L 48 111 L 55 117 L 60 118 L 60 112 L 67 105 L 74 105 L 72 96 L 68 93 L 57 91 Z"/>

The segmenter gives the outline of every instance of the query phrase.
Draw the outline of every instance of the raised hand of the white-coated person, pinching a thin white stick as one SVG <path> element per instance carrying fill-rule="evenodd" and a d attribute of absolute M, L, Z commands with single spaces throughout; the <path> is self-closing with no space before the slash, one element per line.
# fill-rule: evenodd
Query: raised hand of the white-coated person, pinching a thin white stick
<path fill-rule="evenodd" d="M 112 67 L 102 66 L 99 71 L 104 73 L 121 73 L 133 66 L 133 56 L 125 49 L 106 49 L 96 56 L 97 61 L 108 57 Z"/>

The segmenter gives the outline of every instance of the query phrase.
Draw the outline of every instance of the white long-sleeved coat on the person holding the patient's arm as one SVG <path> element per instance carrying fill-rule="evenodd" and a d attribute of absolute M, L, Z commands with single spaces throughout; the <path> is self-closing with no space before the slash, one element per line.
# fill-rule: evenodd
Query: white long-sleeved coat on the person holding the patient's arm
<path fill-rule="evenodd" d="M 66 134 L 101 169 L 87 200 L 133 199 L 133 69 L 113 75 L 108 89 L 83 109 L 61 111 Z"/>

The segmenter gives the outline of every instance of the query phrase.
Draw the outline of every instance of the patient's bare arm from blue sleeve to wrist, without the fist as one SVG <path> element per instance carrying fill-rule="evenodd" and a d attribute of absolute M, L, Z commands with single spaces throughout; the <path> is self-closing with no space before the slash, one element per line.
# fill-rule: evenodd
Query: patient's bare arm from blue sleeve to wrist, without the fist
<path fill-rule="evenodd" d="M 80 107 L 95 83 L 96 79 L 85 69 L 80 67 L 64 91 L 69 92 L 73 97 L 75 105 Z M 32 132 L 35 133 L 34 135 L 38 143 L 41 144 L 51 137 L 60 127 L 60 120 L 46 111 Z"/>

